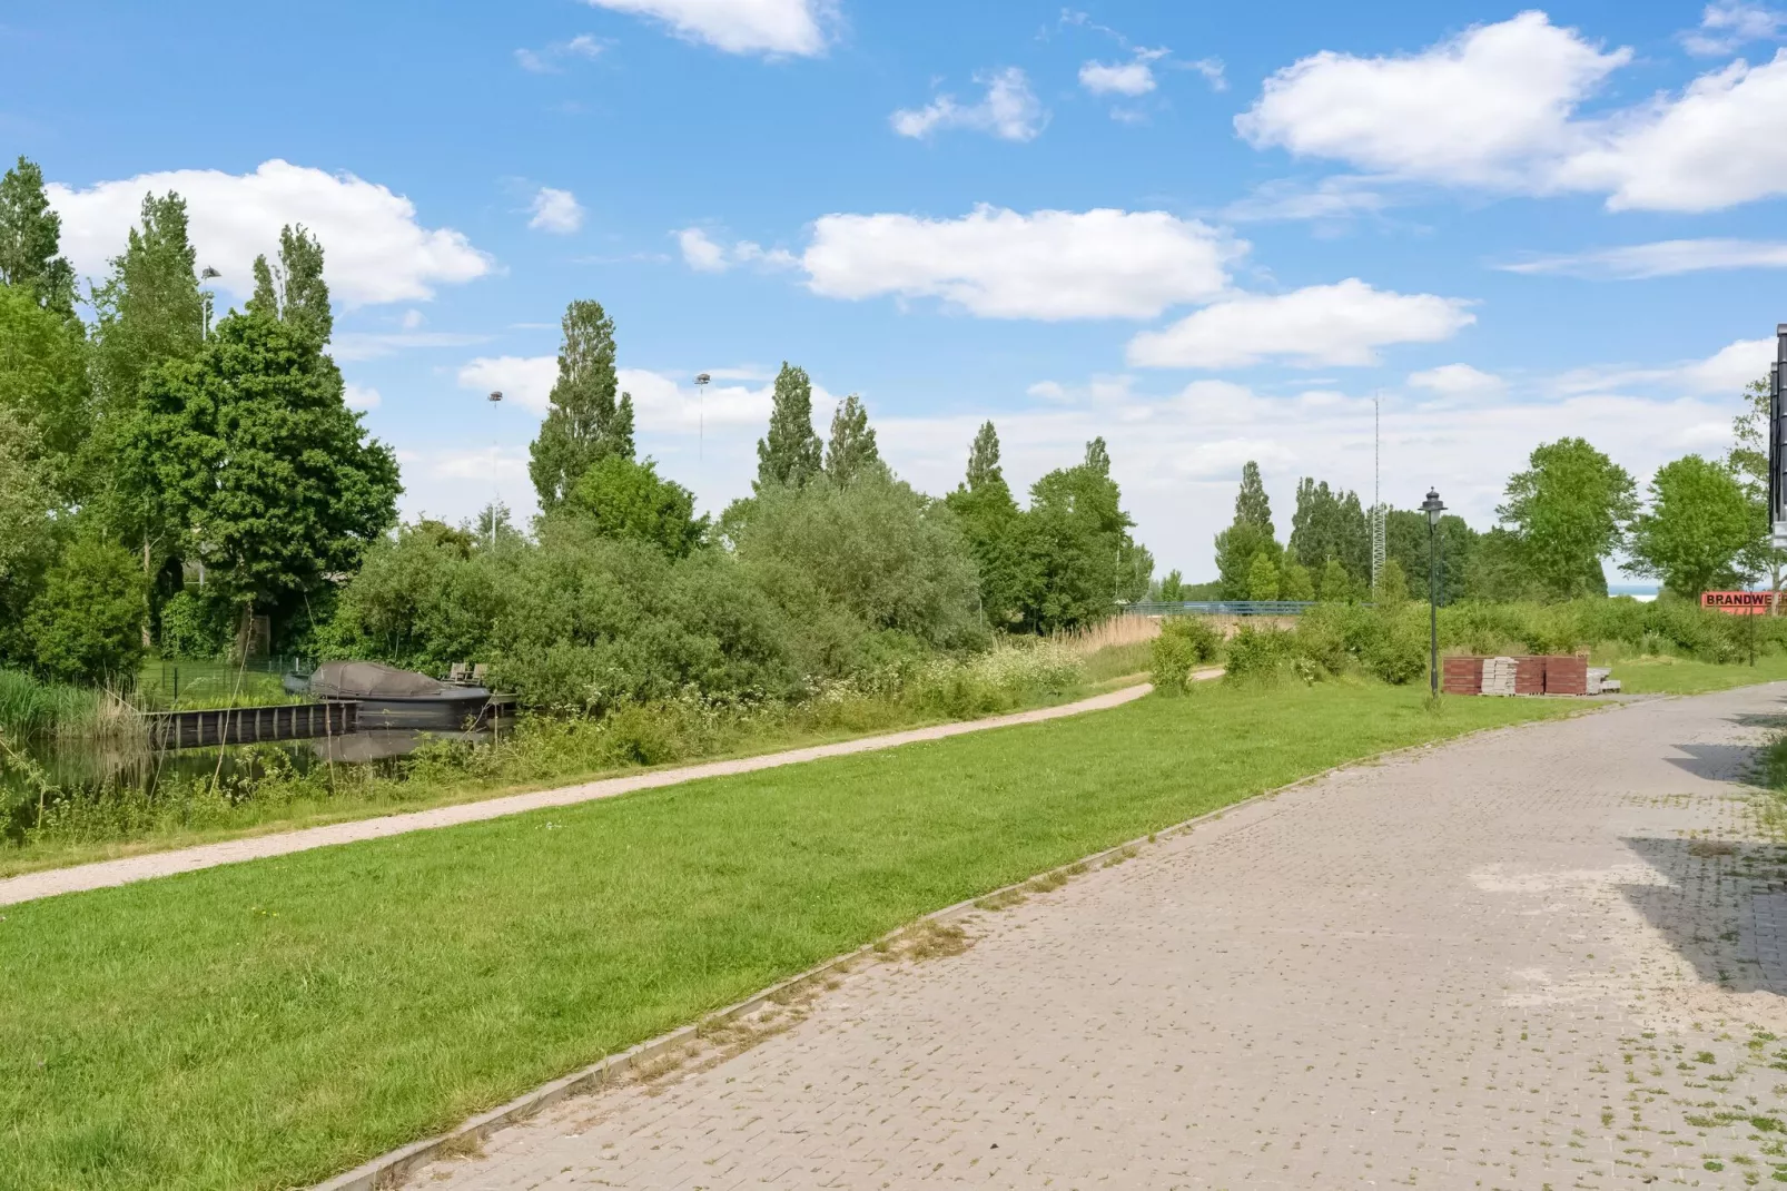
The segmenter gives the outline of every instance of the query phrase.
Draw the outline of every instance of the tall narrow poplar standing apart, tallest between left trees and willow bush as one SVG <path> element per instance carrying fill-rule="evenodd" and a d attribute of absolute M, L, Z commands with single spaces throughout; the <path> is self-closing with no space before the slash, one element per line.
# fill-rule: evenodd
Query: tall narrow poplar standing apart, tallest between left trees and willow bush
<path fill-rule="evenodd" d="M 620 381 L 613 320 L 600 302 L 572 302 L 561 325 L 559 376 L 547 418 L 527 449 L 527 474 L 545 513 L 599 461 L 611 454 L 631 460 L 634 452 L 633 395 L 620 393 L 615 401 Z"/>

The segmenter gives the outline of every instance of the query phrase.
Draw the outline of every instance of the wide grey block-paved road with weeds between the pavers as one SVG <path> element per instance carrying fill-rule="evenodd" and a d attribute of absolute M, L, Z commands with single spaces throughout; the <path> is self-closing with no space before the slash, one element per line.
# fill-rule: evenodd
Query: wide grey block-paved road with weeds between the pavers
<path fill-rule="evenodd" d="M 1783 699 L 1258 799 L 409 1186 L 1773 1186 L 1787 849 L 1737 778 Z"/>

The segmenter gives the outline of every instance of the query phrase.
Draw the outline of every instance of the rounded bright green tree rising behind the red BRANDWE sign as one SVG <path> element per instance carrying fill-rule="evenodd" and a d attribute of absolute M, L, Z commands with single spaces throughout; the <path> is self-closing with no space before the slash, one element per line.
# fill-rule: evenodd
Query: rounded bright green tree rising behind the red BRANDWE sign
<path fill-rule="evenodd" d="M 1633 517 L 1632 574 L 1657 576 L 1687 599 L 1744 579 L 1741 563 L 1755 519 L 1744 488 L 1723 463 L 1687 454 L 1657 469 L 1649 508 Z"/>

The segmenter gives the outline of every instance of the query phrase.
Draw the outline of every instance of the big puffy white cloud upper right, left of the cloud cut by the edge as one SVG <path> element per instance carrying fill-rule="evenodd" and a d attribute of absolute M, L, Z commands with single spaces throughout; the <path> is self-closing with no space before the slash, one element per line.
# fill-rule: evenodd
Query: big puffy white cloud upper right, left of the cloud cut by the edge
<path fill-rule="evenodd" d="M 1254 147 L 1296 156 L 1515 186 L 1537 156 L 1569 148 L 1574 106 L 1630 59 L 1521 13 L 1405 57 L 1322 50 L 1269 77 L 1235 127 Z"/>

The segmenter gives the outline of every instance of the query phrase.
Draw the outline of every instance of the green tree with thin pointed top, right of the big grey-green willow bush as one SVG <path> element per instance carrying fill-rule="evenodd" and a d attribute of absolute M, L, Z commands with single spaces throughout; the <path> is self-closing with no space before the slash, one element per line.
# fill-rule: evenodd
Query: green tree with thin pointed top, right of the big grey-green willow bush
<path fill-rule="evenodd" d="M 1119 601 L 1147 596 L 1154 558 L 1129 529 L 1103 438 L 1078 467 L 1058 469 L 1029 490 L 1022 522 L 1026 628 L 1038 633 L 1103 621 Z"/>

